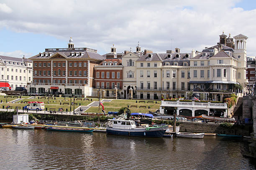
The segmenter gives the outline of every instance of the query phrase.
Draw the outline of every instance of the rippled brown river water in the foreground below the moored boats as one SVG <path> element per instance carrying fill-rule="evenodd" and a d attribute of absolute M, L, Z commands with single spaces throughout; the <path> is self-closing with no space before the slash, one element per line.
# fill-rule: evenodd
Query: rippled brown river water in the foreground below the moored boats
<path fill-rule="evenodd" d="M 0 129 L 2 170 L 249 170 L 246 140 Z"/>

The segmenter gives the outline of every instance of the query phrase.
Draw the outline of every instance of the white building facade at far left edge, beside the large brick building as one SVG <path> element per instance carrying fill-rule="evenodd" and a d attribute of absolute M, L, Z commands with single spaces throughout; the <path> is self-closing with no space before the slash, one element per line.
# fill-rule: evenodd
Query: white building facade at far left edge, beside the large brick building
<path fill-rule="evenodd" d="M 32 61 L 28 58 L 0 55 L 0 68 L 0 82 L 8 82 L 11 90 L 15 90 L 15 87 L 27 88 L 32 82 Z"/>

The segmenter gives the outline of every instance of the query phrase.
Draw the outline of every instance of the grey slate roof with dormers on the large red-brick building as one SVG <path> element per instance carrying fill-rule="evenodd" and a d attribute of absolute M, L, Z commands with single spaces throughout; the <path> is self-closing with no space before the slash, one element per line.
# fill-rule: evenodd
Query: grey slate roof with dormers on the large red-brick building
<path fill-rule="evenodd" d="M 58 53 L 60 55 L 63 55 L 67 58 L 92 58 L 92 59 L 95 59 L 95 60 L 105 60 L 105 57 L 103 57 L 102 55 L 99 55 L 98 53 L 96 52 L 90 52 L 90 51 L 83 51 L 84 54 L 82 54 L 81 56 L 80 55 L 77 55 L 77 56 L 70 56 L 70 53 L 72 52 L 51 52 L 53 53 L 52 55 Z M 44 52 L 44 53 L 47 53 L 47 52 Z M 51 55 L 51 56 L 52 56 Z M 33 60 L 33 59 L 48 59 L 50 58 L 51 56 L 42 56 L 40 57 L 40 55 L 35 55 L 33 57 L 30 57 L 29 59 Z"/>

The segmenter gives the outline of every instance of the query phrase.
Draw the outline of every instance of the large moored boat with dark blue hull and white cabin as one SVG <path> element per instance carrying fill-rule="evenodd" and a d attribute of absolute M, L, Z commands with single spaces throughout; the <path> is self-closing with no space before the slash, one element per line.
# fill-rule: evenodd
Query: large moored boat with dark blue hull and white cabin
<path fill-rule="evenodd" d="M 159 127 L 136 127 L 133 120 L 115 120 L 107 127 L 107 133 L 111 135 L 134 136 L 134 137 L 163 137 L 168 125 Z"/>

